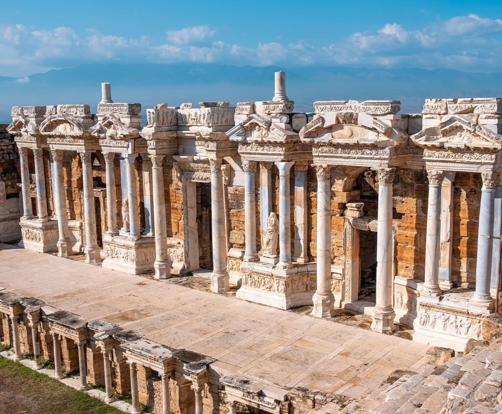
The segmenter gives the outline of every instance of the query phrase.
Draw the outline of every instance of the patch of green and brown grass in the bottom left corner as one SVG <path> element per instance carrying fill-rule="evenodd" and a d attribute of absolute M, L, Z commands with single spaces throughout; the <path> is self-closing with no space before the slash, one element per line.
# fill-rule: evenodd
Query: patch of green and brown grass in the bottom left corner
<path fill-rule="evenodd" d="M 37 414 L 123 414 L 23 364 L 0 357 L 0 411 Z"/>

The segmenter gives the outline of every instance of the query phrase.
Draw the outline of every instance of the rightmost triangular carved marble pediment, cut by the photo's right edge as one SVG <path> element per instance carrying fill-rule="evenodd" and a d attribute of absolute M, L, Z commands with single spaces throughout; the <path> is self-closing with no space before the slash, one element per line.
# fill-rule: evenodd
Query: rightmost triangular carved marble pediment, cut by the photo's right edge
<path fill-rule="evenodd" d="M 447 148 L 450 150 L 499 151 L 502 136 L 491 132 L 469 117 L 452 116 L 437 127 L 425 128 L 411 136 L 413 142 L 423 148 Z"/>

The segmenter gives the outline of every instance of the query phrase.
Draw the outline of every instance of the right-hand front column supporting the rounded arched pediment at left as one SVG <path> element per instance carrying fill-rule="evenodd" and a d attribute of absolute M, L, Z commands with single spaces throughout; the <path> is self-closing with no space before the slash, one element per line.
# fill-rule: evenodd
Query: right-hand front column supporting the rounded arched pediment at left
<path fill-rule="evenodd" d="M 91 154 L 91 151 L 78 151 L 78 155 L 82 161 L 82 178 L 84 182 L 85 263 L 97 264 L 101 263 L 101 249 L 97 245 Z"/>

